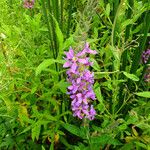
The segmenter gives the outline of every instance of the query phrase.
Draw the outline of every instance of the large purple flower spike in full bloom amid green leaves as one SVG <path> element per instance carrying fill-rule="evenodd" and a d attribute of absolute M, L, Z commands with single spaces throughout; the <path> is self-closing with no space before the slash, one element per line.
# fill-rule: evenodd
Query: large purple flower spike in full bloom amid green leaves
<path fill-rule="evenodd" d="M 77 54 L 72 48 L 66 54 L 66 62 L 63 65 L 67 70 L 68 82 L 71 85 L 68 87 L 68 94 L 72 99 L 71 106 L 73 116 L 80 119 L 88 118 L 93 120 L 96 111 L 91 105 L 92 100 L 95 100 L 95 93 L 93 92 L 94 73 L 88 70 L 92 62 L 89 61 L 87 54 L 96 54 L 95 50 L 89 48 L 86 43 L 84 49 Z"/>

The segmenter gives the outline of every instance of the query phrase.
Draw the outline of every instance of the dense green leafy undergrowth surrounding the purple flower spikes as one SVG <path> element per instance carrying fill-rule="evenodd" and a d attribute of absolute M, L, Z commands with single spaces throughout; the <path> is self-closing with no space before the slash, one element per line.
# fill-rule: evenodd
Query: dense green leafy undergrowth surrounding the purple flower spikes
<path fill-rule="evenodd" d="M 150 150 L 149 0 L 0 1 L 0 149 Z M 93 121 L 73 117 L 64 51 L 98 54 Z"/>

